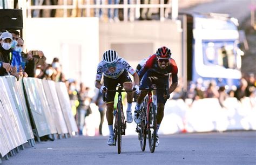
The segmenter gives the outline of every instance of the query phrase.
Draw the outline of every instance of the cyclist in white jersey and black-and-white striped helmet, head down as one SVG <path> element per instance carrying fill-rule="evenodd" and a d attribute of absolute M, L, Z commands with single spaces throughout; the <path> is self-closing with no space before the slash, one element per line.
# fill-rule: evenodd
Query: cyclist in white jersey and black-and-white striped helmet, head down
<path fill-rule="evenodd" d="M 125 59 L 119 57 L 116 51 L 107 50 L 103 54 L 103 60 L 98 64 L 95 86 L 100 90 L 100 92 L 107 92 L 107 90 L 116 90 L 116 86 L 119 83 L 124 87 L 125 90 L 132 90 L 132 80 L 128 73 L 133 75 L 134 87 L 136 88 L 136 93 L 138 94 L 139 77 L 136 71 L 130 66 L 129 63 L 127 63 Z M 100 84 L 102 74 L 104 74 L 104 85 Z M 115 94 L 116 92 L 107 92 L 106 96 L 106 118 L 110 132 L 107 144 L 110 146 L 114 145 L 113 105 Z M 126 120 L 128 123 L 133 121 L 131 112 L 132 98 L 133 93 L 127 92 Z"/>

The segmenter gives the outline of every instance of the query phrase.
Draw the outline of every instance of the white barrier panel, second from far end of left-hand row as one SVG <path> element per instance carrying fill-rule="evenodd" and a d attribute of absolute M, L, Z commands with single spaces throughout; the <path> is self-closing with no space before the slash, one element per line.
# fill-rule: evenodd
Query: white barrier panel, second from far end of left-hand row
<path fill-rule="evenodd" d="M 56 91 L 56 87 L 55 87 L 55 82 L 54 81 L 48 81 L 48 85 L 49 85 L 49 90 L 51 92 L 51 96 L 52 96 L 52 101 L 53 101 L 53 105 L 56 109 L 57 112 L 57 116 L 58 116 L 58 122 L 60 124 L 60 128 L 61 128 L 61 132 L 63 134 L 67 134 L 68 133 L 68 127 L 65 123 L 65 119 L 64 119 L 64 115 L 62 112 L 62 108 L 60 107 L 60 102 L 58 99 L 58 95 L 57 95 L 57 91 Z"/>

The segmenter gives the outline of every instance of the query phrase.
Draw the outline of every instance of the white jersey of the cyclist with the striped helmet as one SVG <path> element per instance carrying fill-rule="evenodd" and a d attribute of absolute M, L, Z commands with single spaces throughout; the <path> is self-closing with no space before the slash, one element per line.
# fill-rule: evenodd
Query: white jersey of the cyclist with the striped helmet
<path fill-rule="evenodd" d="M 102 73 L 105 75 L 105 77 L 112 79 L 117 79 L 124 72 L 124 70 L 129 72 L 131 75 L 136 73 L 131 65 L 123 58 L 118 58 L 115 67 L 116 69 L 113 72 L 110 72 L 107 64 L 103 60 L 100 61 L 97 67 L 96 81 L 100 81 L 102 79 Z"/>

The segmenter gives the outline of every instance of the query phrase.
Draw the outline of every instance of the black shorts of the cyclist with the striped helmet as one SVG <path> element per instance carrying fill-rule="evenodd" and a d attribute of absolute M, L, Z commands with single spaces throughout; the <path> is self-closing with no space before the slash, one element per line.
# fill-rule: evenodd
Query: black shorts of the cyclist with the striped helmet
<path fill-rule="evenodd" d="M 124 72 L 117 78 L 111 79 L 104 75 L 104 86 L 107 87 L 107 90 L 116 90 L 118 84 L 122 85 L 127 82 L 132 82 L 128 72 L 124 70 Z M 106 102 L 114 102 L 114 95 L 116 92 L 107 92 Z"/>

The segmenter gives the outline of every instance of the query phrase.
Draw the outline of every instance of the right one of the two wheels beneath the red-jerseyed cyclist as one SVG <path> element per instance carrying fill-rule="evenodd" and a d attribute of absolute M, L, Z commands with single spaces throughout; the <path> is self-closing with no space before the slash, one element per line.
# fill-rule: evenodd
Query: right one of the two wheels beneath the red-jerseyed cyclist
<path fill-rule="evenodd" d="M 156 119 L 156 109 L 153 102 L 149 106 L 149 129 L 147 129 L 147 135 L 149 136 L 149 148 L 150 152 L 153 153 L 156 148 L 156 130 L 157 130 L 157 119 Z"/>

